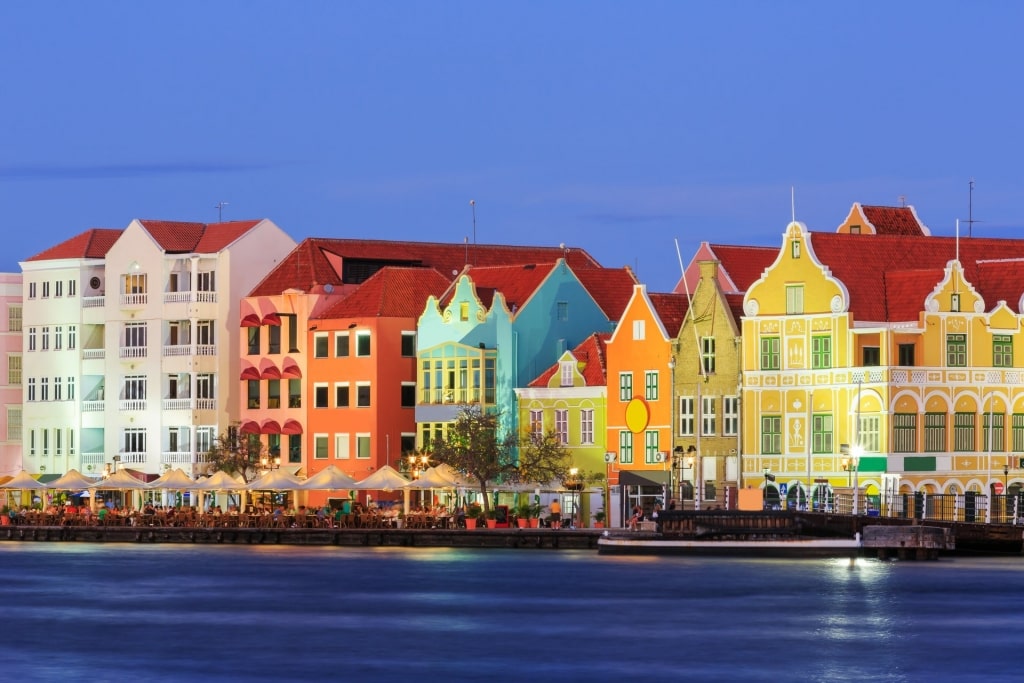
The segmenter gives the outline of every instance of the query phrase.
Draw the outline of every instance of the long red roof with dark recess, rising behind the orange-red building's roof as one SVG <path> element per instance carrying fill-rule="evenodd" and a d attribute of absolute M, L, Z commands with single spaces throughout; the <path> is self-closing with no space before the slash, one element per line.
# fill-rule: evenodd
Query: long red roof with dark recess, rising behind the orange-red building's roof
<path fill-rule="evenodd" d="M 577 247 L 307 238 L 249 296 L 273 296 L 290 289 L 310 292 L 324 285 L 336 288 L 358 285 L 387 265 L 429 267 L 452 281 L 467 265 L 546 263 L 563 257 L 573 269 L 601 267 L 590 254 Z"/>

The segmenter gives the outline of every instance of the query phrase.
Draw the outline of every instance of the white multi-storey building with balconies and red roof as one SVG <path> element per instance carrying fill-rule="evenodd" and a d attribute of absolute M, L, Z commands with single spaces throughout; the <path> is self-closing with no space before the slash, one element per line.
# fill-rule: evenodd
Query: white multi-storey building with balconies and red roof
<path fill-rule="evenodd" d="M 294 247 L 269 220 L 135 220 L 22 262 L 25 468 L 195 473 L 238 421 L 239 300 Z"/>

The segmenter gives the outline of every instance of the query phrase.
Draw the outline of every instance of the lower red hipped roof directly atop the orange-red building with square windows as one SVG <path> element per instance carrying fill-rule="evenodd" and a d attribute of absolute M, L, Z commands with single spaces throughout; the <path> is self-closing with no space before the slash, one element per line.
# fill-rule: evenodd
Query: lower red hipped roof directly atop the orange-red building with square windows
<path fill-rule="evenodd" d="M 381 268 L 351 294 L 310 319 L 343 317 L 419 317 L 427 298 L 437 296 L 449 281 L 433 268 Z"/>

